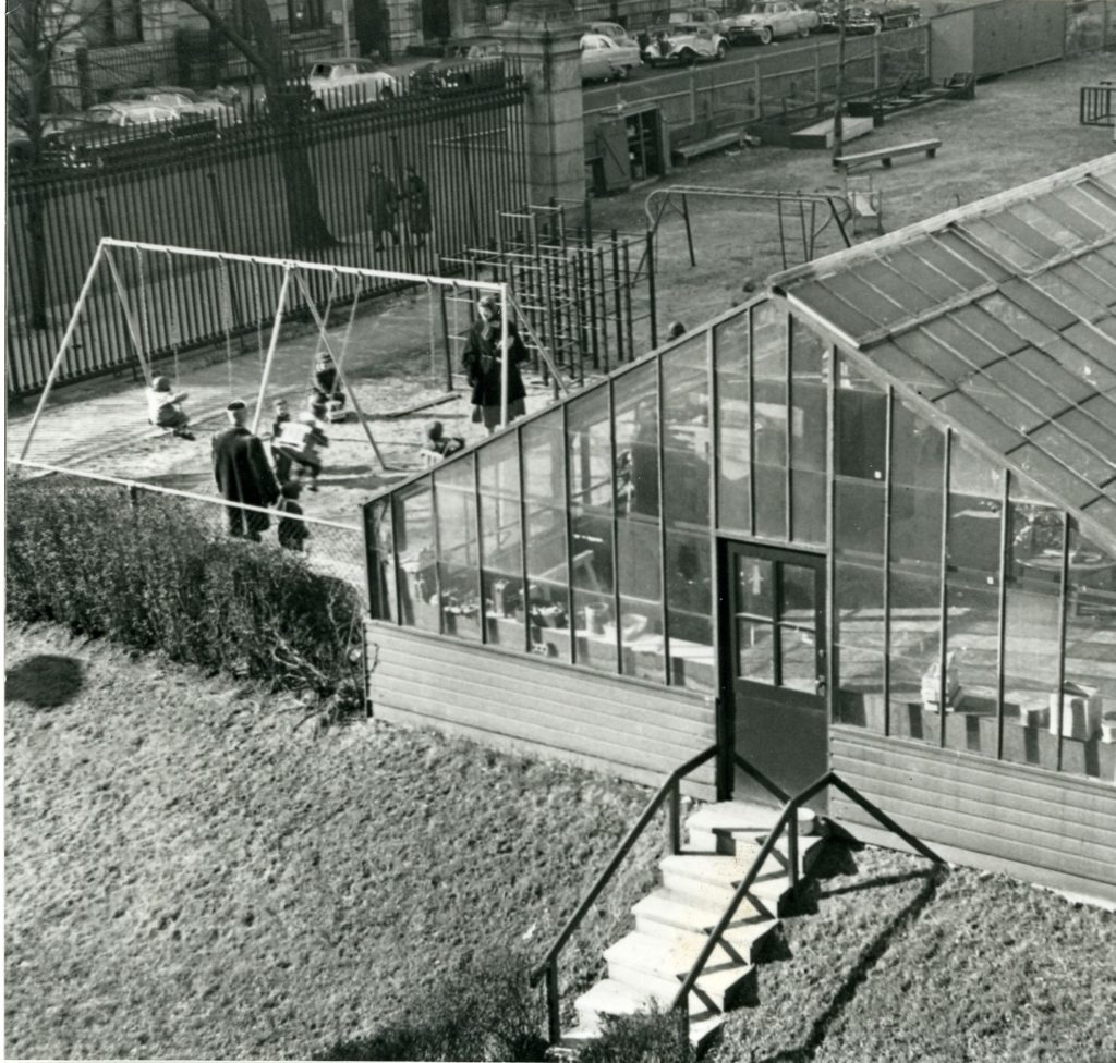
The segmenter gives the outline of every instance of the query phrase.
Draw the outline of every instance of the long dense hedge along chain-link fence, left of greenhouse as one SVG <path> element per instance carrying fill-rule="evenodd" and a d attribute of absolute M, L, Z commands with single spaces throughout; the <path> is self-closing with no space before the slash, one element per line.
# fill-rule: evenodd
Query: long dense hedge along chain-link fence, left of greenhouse
<path fill-rule="evenodd" d="M 285 550 L 225 539 L 180 500 L 8 480 L 9 615 L 206 670 L 310 688 L 349 684 L 360 601 Z"/>

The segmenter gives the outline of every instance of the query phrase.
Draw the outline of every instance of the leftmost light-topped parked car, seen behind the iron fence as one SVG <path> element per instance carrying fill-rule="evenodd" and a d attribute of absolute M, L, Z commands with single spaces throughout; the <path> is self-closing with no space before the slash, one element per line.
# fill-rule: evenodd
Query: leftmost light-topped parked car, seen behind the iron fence
<path fill-rule="evenodd" d="M 215 139 L 217 123 L 205 115 L 180 115 L 171 107 L 140 100 L 97 104 L 77 116 L 73 128 L 44 142 L 44 157 L 74 170 L 135 161 L 148 147 L 167 141 Z"/>

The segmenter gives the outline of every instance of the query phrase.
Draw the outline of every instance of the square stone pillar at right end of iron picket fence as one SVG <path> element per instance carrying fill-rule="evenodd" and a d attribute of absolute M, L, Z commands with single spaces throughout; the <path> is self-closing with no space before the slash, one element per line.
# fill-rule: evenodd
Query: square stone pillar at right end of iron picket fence
<path fill-rule="evenodd" d="M 569 0 L 516 0 L 494 31 L 527 79 L 531 203 L 585 199 L 581 30 Z"/>

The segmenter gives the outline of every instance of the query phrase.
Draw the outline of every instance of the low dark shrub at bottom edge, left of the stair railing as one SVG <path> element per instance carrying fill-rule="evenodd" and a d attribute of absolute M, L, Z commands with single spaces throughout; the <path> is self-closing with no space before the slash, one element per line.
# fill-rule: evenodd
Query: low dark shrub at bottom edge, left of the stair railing
<path fill-rule="evenodd" d="M 545 1014 L 518 953 L 490 953 L 444 975 L 415 1017 L 343 1042 L 324 1060 L 545 1060 Z"/>

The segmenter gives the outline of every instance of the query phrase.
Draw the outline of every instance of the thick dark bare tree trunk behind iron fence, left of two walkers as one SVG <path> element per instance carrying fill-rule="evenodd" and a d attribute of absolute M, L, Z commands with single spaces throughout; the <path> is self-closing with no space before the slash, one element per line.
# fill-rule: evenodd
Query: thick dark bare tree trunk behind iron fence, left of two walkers
<path fill-rule="evenodd" d="M 267 0 L 234 0 L 247 32 L 241 32 L 228 15 L 205 0 L 184 2 L 251 64 L 263 83 L 268 114 L 279 134 L 279 165 L 287 197 L 291 250 L 331 247 L 337 241 L 321 214 L 318 186 L 306 149 L 307 100 L 304 93 L 291 86 Z"/>

